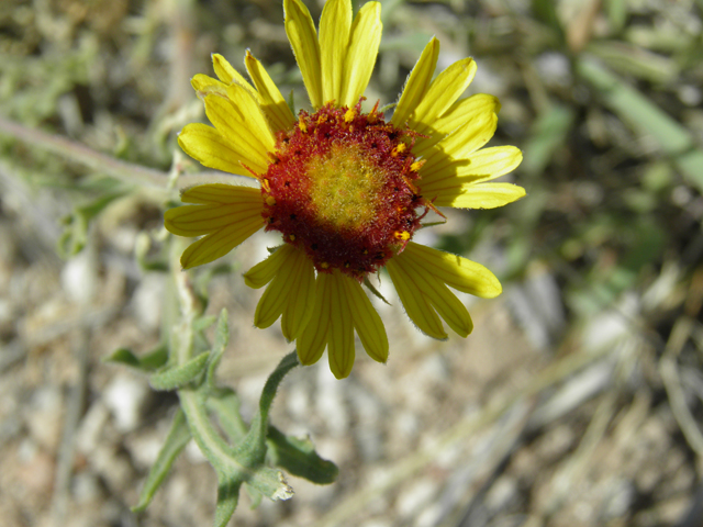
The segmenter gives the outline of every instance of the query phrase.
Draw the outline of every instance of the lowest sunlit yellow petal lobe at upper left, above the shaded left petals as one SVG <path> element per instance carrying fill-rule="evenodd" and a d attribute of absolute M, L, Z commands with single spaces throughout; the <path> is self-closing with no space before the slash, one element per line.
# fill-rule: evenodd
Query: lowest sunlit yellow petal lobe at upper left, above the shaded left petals
<path fill-rule="evenodd" d="M 248 167 L 255 165 L 237 145 L 225 138 L 212 126 L 201 123 L 187 125 L 178 134 L 178 144 L 186 154 L 199 160 L 205 167 L 216 170 L 224 170 L 230 173 L 253 177 L 252 173 L 241 165 L 244 161 Z M 265 167 L 259 167 L 265 171 Z"/>

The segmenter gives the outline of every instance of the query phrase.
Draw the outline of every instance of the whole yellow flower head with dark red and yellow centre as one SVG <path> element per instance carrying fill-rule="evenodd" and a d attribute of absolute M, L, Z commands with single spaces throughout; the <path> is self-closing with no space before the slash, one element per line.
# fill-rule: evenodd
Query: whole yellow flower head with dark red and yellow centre
<path fill-rule="evenodd" d="M 312 111 L 295 116 L 248 52 L 252 83 L 222 56 L 219 80 L 192 79 L 214 127 L 189 124 L 182 149 L 207 167 L 254 177 L 258 188 L 203 184 L 186 190 L 189 205 L 166 212 L 166 228 L 202 236 L 182 255 L 188 269 L 227 254 L 260 228 L 283 244 L 244 274 L 266 287 L 254 323 L 281 317 L 303 365 L 328 351 L 337 378 L 352 371 L 354 332 L 366 352 L 388 359 L 380 316 L 361 284 L 386 268 L 408 316 L 426 335 L 462 337 L 472 329 L 465 305 L 449 290 L 493 298 L 498 279 L 483 266 L 412 242 L 424 215 L 437 206 L 492 209 L 525 195 L 492 182 L 522 160 L 513 146 L 483 148 L 496 126 L 498 99 L 458 100 L 476 74 L 471 58 L 432 80 L 439 42 L 427 44 L 387 120 L 378 103 L 361 110 L 381 38 L 380 4 L 353 19 L 350 0 L 328 0 L 320 33 L 300 0 L 284 0 L 286 31 Z"/>

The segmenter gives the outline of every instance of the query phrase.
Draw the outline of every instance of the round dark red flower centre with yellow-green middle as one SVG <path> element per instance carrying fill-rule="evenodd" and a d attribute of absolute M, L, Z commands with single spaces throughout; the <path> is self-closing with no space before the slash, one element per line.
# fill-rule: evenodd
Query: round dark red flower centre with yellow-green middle
<path fill-rule="evenodd" d="M 416 134 L 375 108 L 324 105 L 301 112 L 278 136 L 261 193 L 267 231 L 305 250 L 319 272 L 361 281 L 398 255 L 432 206 L 413 184 Z M 420 209 L 422 215 L 419 215 Z"/>

